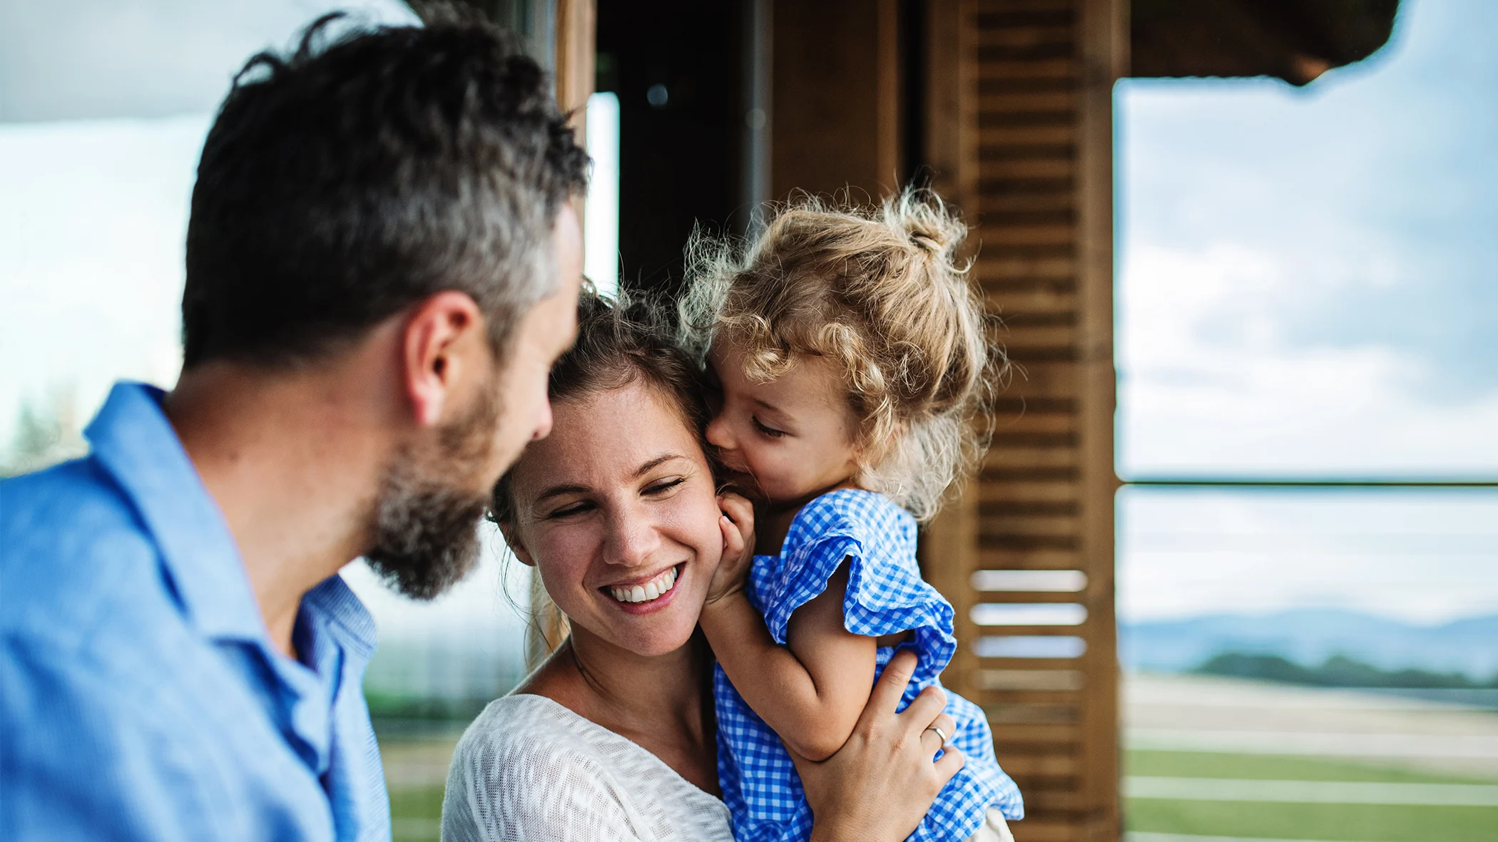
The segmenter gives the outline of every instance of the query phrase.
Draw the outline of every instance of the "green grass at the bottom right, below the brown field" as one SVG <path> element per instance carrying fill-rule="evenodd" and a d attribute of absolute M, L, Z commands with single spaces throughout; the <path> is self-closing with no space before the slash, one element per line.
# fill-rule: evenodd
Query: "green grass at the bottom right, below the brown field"
<path fill-rule="evenodd" d="M 1491 784 L 1345 760 L 1210 752 L 1129 751 L 1126 775 L 1248 778 L 1263 781 L 1357 781 L 1389 784 Z M 1128 830 L 1198 836 L 1324 839 L 1338 842 L 1492 842 L 1498 808 L 1402 805 L 1297 805 L 1129 799 Z"/>

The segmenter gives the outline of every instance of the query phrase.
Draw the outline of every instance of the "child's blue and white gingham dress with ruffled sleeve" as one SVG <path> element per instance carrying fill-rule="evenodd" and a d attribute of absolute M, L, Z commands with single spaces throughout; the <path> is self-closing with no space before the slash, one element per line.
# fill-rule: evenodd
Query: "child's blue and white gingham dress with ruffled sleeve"
<path fill-rule="evenodd" d="M 770 635 L 785 646 L 791 613 L 821 595 L 827 580 L 848 560 L 843 625 L 848 631 L 879 637 L 914 631 L 920 665 L 905 688 L 900 710 L 924 688 L 935 685 L 957 641 L 951 604 L 921 580 L 915 566 L 915 518 L 882 494 L 858 490 L 831 491 L 806 503 L 779 556 L 755 556 L 749 572 L 749 601 L 764 614 Z M 879 647 L 876 671 L 894 655 Z M 728 682 L 722 667 L 713 674 L 718 706 L 718 779 L 739 842 L 807 839 L 812 809 L 801 793 L 791 755 L 774 731 L 755 715 Z M 966 839 L 981 826 L 987 809 L 1007 820 L 1025 818 L 1014 781 L 993 757 L 993 734 L 983 710 L 947 692 L 947 713 L 957 722 L 951 745 L 968 763 L 942 788 L 930 812 L 909 839 Z"/>

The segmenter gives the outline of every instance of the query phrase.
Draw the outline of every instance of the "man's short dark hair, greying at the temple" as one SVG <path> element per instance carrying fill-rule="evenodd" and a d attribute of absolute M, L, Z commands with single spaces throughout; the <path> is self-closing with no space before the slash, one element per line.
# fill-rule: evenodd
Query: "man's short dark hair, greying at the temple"
<path fill-rule="evenodd" d="M 551 229 L 589 159 L 551 79 L 476 13 L 327 15 L 235 76 L 198 163 L 183 361 L 295 366 L 440 291 L 496 352 L 553 291 Z"/>

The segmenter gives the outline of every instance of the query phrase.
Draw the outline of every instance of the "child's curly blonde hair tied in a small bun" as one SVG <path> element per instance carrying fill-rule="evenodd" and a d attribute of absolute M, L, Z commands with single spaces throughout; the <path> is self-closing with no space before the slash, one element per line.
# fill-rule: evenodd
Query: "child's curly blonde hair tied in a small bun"
<path fill-rule="evenodd" d="M 683 345 L 701 361 L 727 336 L 758 382 L 797 354 L 836 361 L 860 420 L 858 484 L 926 521 L 987 445 L 975 421 L 1007 366 L 968 283 L 971 261 L 957 259 L 966 234 L 924 189 L 881 207 L 803 196 L 746 241 L 697 231 Z"/>

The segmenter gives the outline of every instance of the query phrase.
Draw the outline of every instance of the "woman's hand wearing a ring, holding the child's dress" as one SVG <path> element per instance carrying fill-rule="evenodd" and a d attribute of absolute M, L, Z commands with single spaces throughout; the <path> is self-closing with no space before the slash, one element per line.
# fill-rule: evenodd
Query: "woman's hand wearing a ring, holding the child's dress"
<path fill-rule="evenodd" d="M 951 746 L 932 763 L 942 740 L 930 728 L 956 728 L 942 713 L 947 695 L 939 688 L 926 688 L 894 712 L 915 664 L 915 653 L 894 653 L 852 736 L 831 758 L 812 763 L 791 752 L 812 806 L 813 842 L 905 839 L 962 769 L 962 752 Z"/>

